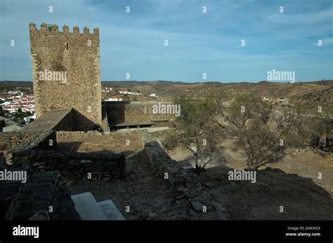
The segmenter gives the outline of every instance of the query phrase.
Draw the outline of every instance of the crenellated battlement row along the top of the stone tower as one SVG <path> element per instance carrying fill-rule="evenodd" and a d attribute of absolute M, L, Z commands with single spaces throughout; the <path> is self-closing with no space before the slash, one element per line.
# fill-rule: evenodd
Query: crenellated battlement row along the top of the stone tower
<path fill-rule="evenodd" d="M 60 32 L 58 25 L 48 25 L 44 22 L 41 23 L 41 28 L 37 29 L 36 25 L 33 22 L 30 22 L 29 24 L 29 29 L 30 32 Z M 99 35 L 100 31 L 98 29 L 98 27 L 93 29 L 93 33 L 89 33 L 89 28 L 88 27 L 84 27 L 83 29 L 83 33 L 79 32 L 79 27 L 74 26 L 73 27 L 73 31 L 70 32 L 70 28 L 67 25 L 63 25 L 63 31 L 60 33 L 72 33 L 72 34 L 94 34 L 94 35 Z"/>

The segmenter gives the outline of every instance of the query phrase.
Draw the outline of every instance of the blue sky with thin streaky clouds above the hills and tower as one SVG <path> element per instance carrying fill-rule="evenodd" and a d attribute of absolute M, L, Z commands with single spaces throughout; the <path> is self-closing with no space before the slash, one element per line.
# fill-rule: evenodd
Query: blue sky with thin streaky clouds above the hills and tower
<path fill-rule="evenodd" d="M 332 0 L 1 0 L 0 80 L 31 80 L 30 22 L 98 27 L 102 81 L 333 79 L 332 18 Z"/>

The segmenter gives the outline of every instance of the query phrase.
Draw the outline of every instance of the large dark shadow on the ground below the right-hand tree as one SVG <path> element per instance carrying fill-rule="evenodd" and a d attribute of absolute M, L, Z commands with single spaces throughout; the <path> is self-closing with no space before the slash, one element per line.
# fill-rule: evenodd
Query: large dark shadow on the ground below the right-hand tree
<path fill-rule="evenodd" d="M 256 171 L 256 183 L 228 180 L 233 168 L 216 166 L 200 175 L 211 180 L 208 190 L 237 220 L 332 220 L 333 199 L 311 178 L 266 168 Z"/>

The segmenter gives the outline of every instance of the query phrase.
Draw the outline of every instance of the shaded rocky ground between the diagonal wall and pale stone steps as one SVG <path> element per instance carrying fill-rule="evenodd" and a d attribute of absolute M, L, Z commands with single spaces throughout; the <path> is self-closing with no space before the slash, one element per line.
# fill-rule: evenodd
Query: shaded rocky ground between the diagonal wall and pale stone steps
<path fill-rule="evenodd" d="M 129 159 L 124 180 L 72 180 L 67 188 L 72 195 L 91 192 L 98 202 L 112 199 L 126 220 L 189 219 L 185 200 L 176 188 L 158 178 L 146 159 L 138 161 Z"/>

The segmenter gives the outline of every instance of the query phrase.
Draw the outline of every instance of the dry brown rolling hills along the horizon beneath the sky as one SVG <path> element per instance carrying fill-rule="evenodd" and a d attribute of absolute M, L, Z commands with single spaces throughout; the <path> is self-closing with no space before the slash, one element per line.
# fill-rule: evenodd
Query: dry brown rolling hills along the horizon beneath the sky
<path fill-rule="evenodd" d="M 32 88 L 32 81 L 0 81 L 0 89 L 16 87 Z M 181 81 L 102 81 L 102 86 L 111 88 L 124 88 L 131 91 L 140 91 L 146 95 L 156 93 L 157 96 L 171 98 L 179 92 L 190 92 L 193 97 L 204 96 L 207 93 L 224 91 L 226 98 L 235 98 L 241 93 L 256 93 L 258 96 L 268 98 L 291 98 L 292 102 L 332 103 L 333 80 L 308 81 L 289 83 L 273 83 L 259 81 L 257 83 L 238 82 L 222 83 L 218 81 L 185 83 Z"/>

